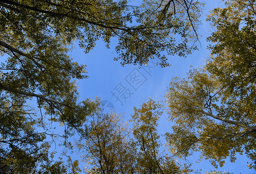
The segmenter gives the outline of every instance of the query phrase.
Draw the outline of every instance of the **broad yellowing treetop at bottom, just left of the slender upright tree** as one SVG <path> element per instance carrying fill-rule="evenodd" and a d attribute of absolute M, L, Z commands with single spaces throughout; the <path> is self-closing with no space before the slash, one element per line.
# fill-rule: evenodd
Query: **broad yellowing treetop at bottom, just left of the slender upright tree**
<path fill-rule="evenodd" d="M 114 113 L 92 115 L 88 136 L 77 142 L 86 173 L 135 172 L 135 151 L 129 146 L 129 131 L 120 117 Z"/>

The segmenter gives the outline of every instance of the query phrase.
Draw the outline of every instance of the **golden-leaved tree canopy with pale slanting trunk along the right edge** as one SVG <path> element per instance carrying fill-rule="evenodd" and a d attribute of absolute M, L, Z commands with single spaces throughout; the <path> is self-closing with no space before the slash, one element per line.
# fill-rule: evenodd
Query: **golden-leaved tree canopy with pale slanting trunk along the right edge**
<path fill-rule="evenodd" d="M 212 11 L 212 55 L 203 69 L 174 78 L 166 99 L 172 150 L 181 157 L 201 151 L 214 166 L 247 154 L 256 170 L 255 1 L 226 1 Z"/>

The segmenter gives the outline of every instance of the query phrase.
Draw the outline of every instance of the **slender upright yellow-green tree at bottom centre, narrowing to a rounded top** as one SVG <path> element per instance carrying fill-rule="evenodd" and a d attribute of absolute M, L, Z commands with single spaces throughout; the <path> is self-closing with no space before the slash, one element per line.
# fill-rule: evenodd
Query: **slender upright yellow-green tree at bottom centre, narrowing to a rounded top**
<path fill-rule="evenodd" d="M 188 166 L 182 166 L 175 159 L 160 151 L 160 136 L 157 133 L 158 119 L 163 114 L 162 104 L 150 99 L 140 108 L 134 108 L 132 115 L 131 147 L 136 149 L 135 173 L 189 173 Z"/>

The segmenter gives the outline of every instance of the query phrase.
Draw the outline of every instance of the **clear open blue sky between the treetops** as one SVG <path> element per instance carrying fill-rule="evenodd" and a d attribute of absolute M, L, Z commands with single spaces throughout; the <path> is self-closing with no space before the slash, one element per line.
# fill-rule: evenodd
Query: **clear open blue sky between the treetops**
<path fill-rule="evenodd" d="M 151 67 L 151 73 L 149 68 L 146 67 L 138 68 L 138 66 L 134 65 L 121 67 L 120 61 L 114 61 L 116 39 L 112 39 L 110 49 L 107 49 L 103 42 L 97 42 L 96 47 L 87 55 L 84 54 L 83 50 L 76 47 L 71 55 L 74 57 L 74 61 L 87 66 L 86 70 L 89 75 L 88 79 L 78 81 L 80 100 L 86 98 L 95 99 L 96 96 L 102 100 L 107 100 L 113 103 L 116 112 L 122 114 L 125 121 L 131 119 L 133 107 L 139 107 L 148 97 L 152 97 L 156 101 L 164 100 L 164 95 L 172 77 L 185 77 L 186 72 L 191 68 L 190 66 L 197 68 L 204 65 L 204 60 L 210 54 L 206 49 L 209 44 L 206 42 L 206 37 L 210 36 L 212 31 L 205 18 L 209 10 L 217 6 L 223 6 L 223 2 L 221 0 L 205 2 L 201 18 L 202 24 L 198 31 L 199 34 L 203 35 L 200 38 L 201 46 L 199 51 L 194 51 L 187 58 L 168 56 L 171 66 L 167 68 L 154 68 L 154 63 L 149 63 L 147 66 Z M 135 81 L 132 77 L 138 77 L 138 75 L 140 75 L 140 79 Z M 117 95 L 120 91 L 122 91 L 123 95 L 119 98 L 121 101 L 113 96 L 113 93 Z M 124 99 L 124 97 L 127 97 L 127 99 Z M 166 118 L 167 115 L 165 114 L 160 119 L 160 134 L 170 131 L 171 122 L 167 122 Z M 214 169 L 210 162 L 203 160 L 196 164 L 196 160 L 199 160 L 199 154 L 189 158 L 189 161 L 193 163 L 193 169 L 202 169 L 202 172 Z M 237 155 L 235 163 L 230 163 L 229 160 L 226 160 L 225 165 L 219 168 L 219 171 L 255 173 L 255 171 L 247 168 L 247 161 L 248 159 L 245 155 Z"/>

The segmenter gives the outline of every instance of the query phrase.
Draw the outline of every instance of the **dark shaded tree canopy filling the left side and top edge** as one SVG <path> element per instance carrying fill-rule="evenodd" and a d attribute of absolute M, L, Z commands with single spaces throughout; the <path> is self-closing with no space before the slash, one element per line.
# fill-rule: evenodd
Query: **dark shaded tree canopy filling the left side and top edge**
<path fill-rule="evenodd" d="M 75 41 L 88 53 L 99 39 L 109 47 L 117 37 L 116 60 L 122 65 L 141 66 L 158 57 L 160 66 L 169 66 L 163 50 L 185 56 L 196 49 L 200 8 L 200 2 L 186 0 L 138 6 L 111 0 L 1 1 L 0 171 L 66 173 L 49 148 L 56 137 L 85 136 L 86 118 L 99 106 L 98 100 L 77 102 L 75 80 L 87 76 L 86 66 L 68 55 Z M 53 131 L 52 122 L 64 125 L 63 135 Z"/>

